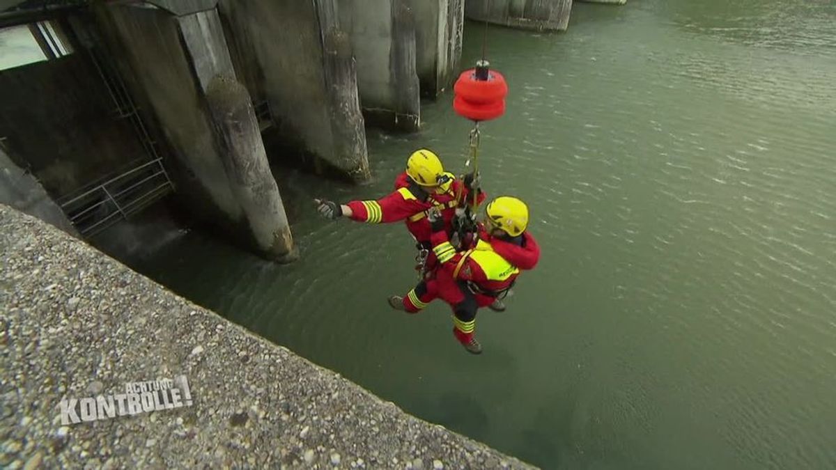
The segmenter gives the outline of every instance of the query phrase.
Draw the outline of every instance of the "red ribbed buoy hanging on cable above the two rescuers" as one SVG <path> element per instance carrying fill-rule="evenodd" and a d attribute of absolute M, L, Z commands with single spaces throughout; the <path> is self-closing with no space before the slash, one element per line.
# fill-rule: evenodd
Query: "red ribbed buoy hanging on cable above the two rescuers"
<path fill-rule="evenodd" d="M 502 74 L 487 68 L 487 61 L 462 72 L 453 92 L 453 109 L 469 120 L 492 120 L 505 113 L 508 85 Z"/>

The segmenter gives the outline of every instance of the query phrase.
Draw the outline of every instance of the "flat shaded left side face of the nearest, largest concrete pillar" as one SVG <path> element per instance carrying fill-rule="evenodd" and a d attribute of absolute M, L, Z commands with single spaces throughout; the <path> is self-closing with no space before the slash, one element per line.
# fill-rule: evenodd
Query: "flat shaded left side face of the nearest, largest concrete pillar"
<path fill-rule="evenodd" d="M 242 207 L 215 149 L 212 123 L 176 18 L 157 8 L 106 3 L 98 9 L 120 72 L 150 120 L 161 128 L 176 163 L 177 196 L 204 220 L 237 221 Z"/>

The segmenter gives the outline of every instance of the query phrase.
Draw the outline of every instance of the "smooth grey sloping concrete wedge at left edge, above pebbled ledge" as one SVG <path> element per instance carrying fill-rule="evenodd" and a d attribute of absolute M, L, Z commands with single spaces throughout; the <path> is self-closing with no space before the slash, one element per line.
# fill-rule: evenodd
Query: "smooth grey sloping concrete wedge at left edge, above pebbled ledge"
<path fill-rule="evenodd" d="M 38 217 L 74 237 L 79 236 L 61 207 L 49 197 L 41 183 L 15 165 L 3 148 L 0 148 L 0 203 Z"/>

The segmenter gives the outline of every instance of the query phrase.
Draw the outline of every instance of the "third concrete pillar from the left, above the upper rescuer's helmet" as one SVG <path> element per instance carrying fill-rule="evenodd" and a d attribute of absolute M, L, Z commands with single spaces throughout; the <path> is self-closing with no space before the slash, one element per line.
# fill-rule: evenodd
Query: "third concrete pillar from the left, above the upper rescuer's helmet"
<path fill-rule="evenodd" d="M 351 38 L 366 122 L 392 130 L 417 130 L 421 89 L 409 0 L 340 3 L 339 25 Z"/>

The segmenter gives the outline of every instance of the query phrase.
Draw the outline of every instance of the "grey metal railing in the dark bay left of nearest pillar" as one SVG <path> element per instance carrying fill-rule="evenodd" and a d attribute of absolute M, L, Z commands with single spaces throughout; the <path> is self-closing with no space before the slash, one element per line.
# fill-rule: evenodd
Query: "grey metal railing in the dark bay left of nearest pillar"
<path fill-rule="evenodd" d="M 120 175 L 59 201 L 70 222 L 84 237 L 92 237 L 174 189 L 162 159 L 135 166 Z"/>

